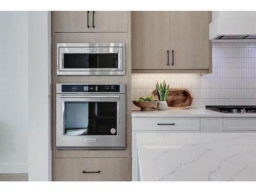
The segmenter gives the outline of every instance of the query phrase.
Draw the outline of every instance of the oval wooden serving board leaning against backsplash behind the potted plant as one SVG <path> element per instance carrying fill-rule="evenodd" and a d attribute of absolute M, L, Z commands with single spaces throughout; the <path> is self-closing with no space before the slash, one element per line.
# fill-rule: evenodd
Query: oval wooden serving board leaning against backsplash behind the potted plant
<path fill-rule="evenodd" d="M 158 100 L 157 92 L 152 92 L 153 99 Z M 167 97 L 169 109 L 187 109 L 193 101 L 193 96 L 187 88 L 171 88 Z"/>

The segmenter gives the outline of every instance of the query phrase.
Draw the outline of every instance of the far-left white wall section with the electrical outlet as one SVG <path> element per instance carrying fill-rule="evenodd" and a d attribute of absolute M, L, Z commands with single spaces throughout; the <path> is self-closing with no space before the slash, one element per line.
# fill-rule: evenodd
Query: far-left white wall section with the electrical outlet
<path fill-rule="evenodd" d="M 0 173 L 28 173 L 27 164 L 28 13 L 0 12 Z"/>

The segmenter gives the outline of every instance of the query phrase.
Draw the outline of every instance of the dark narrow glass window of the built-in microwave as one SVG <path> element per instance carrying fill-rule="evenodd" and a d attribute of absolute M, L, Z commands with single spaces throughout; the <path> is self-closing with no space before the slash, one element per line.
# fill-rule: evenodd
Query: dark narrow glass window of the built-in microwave
<path fill-rule="evenodd" d="M 65 53 L 64 68 L 117 68 L 118 53 Z"/>

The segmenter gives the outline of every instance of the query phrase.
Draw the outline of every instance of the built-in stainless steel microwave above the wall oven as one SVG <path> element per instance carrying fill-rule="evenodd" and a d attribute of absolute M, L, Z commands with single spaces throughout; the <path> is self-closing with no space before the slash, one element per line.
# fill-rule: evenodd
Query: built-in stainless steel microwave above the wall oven
<path fill-rule="evenodd" d="M 124 43 L 57 43 L 57 75 L 124 75 Z"/>

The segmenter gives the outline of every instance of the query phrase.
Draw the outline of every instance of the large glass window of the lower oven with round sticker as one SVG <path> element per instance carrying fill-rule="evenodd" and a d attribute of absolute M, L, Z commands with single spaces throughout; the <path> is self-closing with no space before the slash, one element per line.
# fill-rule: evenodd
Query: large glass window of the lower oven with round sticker
<path fill-rule="evenodd" d="M 63 135 L 117 135 L 117 102 L 65 102 Z"/>

